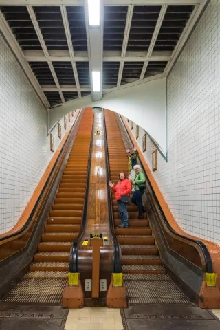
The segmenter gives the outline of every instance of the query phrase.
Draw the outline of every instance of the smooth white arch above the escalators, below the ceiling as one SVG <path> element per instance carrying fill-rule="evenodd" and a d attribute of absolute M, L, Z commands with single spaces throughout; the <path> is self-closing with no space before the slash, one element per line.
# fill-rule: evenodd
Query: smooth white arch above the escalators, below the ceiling
<path fill-rule="evenodd" d="M 155 140 L 164 155 L 166 139 L 166 78 L 140 83 L 132 87 L 104 94 L 102 100 L 91 101 L 91 96 L 69 101 L 49 111 L 49 129 L 70 111 L 83 107 L 109 109 L 141 126 Z"/>

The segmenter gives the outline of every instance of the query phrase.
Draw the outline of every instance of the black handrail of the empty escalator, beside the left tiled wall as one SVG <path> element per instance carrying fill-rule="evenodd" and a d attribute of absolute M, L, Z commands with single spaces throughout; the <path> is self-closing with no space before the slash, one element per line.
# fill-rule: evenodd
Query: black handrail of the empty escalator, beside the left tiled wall
<path fill-rule="evenodd" d="M 17 232 L 13 232 L 12 234 L 6 234 L 5 236 L 1 237 L 0 238 L 0 241 L 5 241 L 5 239 L 10 239 L 11 237 L 14 237 L 14 236 L 17 236 L 19 234 L 21 234 L 26 228 L 28 228 L 28 225 L 30 225 L 31 221 L 32 221 L 32 218 L 34 216 L 34 212 L 36 211 L 36 208 L 39 206 L 39 202 L 41 200 L 41 197 L 43 196 L 43 193 L 45 192 L 45 189 L 47 188 L 47 184 L 50 180 L 50 178 L 52 177 L 52 174 L 54 173 L 54 169 L 56 168 L 56 164 L 58 163 L 58 160 L 60 159 L 62 153 L 63 153 L 63 149 L 65 148 L 67 142 L 69 142 L 69 135 L 70 133 L 73 131 L 74 127 L 76 126 L 76 123 L 78 122 L 78 117 L 81 113 L 79 112 L 77 117 L 76 117 L 76 120 L 72 126 L 72 129 L 69 131 L 68 135 L 67 135 L 67 139 L 65 140 L 65 143 L 63 144 L 62 148 L 61 148 L 61 152 L 59 153 L 57 159 L 56 159 L 56 162 L 54 163 L 54 166 L 52 167 L 52 170 L 50 172 L 50 175 L 49 177 L 47 178 L 47 181 L 45 182 L 44 186 L 43 186 L 43 189 L 41 191 L 41 194 L 39 195 L 39 198 L 37 199 L 35 205 L 34 205 L 34 208 L 30 214 L 30 216 L 28 217 L 28 221 L 25 222 L 25 224 L 21 227 L 21 229 L 17 230 Z"/>

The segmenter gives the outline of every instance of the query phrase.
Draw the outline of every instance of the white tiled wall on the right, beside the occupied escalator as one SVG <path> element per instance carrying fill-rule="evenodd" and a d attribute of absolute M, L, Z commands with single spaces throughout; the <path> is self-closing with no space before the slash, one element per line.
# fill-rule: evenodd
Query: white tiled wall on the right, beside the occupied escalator
<path fill-rule="evenodd" d="M 220 244 L 219 104 L 220 1 L 211 0 L 168 77 L 168 163 L 157 153 L 153 175 L 181 228 Z"/>

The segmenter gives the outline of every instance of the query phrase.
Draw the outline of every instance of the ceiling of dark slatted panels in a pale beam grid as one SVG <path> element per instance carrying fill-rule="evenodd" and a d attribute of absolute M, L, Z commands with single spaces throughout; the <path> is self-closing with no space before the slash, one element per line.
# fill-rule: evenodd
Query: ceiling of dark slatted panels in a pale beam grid
<path fill-rule="evenodd" d="M 104 0 L 102 93 L 166 76 L 206 2 Z M 0 6 L 1 33 L 45 107 L 91 94 L 84 1 L 0 0 Z"/>

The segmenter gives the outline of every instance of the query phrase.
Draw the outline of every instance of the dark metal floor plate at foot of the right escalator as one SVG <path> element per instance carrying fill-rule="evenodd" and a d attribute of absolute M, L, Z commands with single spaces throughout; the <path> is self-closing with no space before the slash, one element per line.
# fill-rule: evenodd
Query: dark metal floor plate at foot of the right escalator
<path fill-rule="evenodd" d="M 196 306 L 139 305 L 121 314 L 124 330 L 220 330 L 219 319 Z"/>

